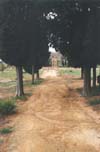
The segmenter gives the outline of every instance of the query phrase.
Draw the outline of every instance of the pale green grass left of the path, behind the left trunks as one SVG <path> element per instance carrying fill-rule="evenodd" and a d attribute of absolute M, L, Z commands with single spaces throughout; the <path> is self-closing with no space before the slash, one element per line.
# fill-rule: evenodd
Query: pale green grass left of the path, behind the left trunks
<path fill-rule="evenodd" d="M 32 76 L 28 73 L 23 73 L 23 85 L 24 85 L 24 92 L 25 96 L 22 97 L 13 97 L 10 100 L 22 100 L 26 101 L 29 96 L 32 95 L 34 87 L 40 85 L 43 82 L 42 79 L 35 80 L 35 83 L 32 85 Z M 26 91 L 27 90 L 27 91 Z M 0 93 L 3 98 L 7 98 L 9 94 L 11 96 L 15 95 L 16 91 L 16 69 L 15 67 L 10 67 L 4 70 L 4 72 L 0 72 Z M 28 94 L 28 95 L 27 95 Z"/>

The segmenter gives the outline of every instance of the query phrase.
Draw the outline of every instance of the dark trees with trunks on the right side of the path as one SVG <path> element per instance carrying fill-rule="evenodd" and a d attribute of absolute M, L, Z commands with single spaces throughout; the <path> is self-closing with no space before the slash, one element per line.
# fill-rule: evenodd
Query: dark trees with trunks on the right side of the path
<path fill-rule="evenodd" d="M 85 96 L 96 86 L 96 66 L 100 63 L 100 3 L 99 1 L 59 1 L 51 20 L 51 43 L 66 55 L 69 64 L 84 71 Z"/>

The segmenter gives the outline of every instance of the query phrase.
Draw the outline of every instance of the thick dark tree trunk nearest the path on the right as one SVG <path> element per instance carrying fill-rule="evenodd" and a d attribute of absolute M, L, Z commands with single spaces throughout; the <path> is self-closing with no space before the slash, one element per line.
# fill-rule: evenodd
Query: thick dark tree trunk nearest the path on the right
<path fill-rule="evenodd" d="M 83 95 L 89 96 L 91 91 L 91 68 L 85 67 L 84 68 L 84 88 L 83 88 Z"/>

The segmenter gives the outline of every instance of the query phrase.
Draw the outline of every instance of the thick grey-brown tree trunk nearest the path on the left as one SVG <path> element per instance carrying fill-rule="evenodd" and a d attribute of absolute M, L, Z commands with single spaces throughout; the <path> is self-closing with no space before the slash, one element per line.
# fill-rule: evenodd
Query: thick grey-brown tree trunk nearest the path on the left
<path fill-rule="evenodd" d="M 22 66 L 16 66 L 16 96 L 23 96 L 23 72 L 22 72 Z"/>

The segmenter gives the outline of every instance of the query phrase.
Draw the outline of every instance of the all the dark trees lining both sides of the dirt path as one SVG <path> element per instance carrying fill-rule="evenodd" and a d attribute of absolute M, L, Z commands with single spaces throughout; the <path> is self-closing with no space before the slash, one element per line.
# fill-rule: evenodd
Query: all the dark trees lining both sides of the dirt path
<path fill-rule="evenodd" d="M 17 95 L 23 94 L 22 67 L 47 63 L 48 43 L 84 69 L 84 95 L 90 93 L 90 70 L 99 64 L 99 0 L 3 0 L 0 4 L 0 58 L 16 66 Z M 32 70 L 33 71 L 33 70 Z M 32 73 L 31 71 L 31 73 Z"/>

